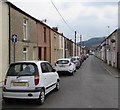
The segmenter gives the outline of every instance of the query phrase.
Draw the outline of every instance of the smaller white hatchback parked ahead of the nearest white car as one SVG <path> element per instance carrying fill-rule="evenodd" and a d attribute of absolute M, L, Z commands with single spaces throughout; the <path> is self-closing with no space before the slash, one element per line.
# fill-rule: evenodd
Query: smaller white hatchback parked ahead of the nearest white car
<path fill-rule="evenodd" d="M 76 66 L 71 62 L 71 58 L 62 58 L 56 61 L 55 69 L 58 73 L 68 72 L 70 75 L 73 75 L 76 71 Z"/>

